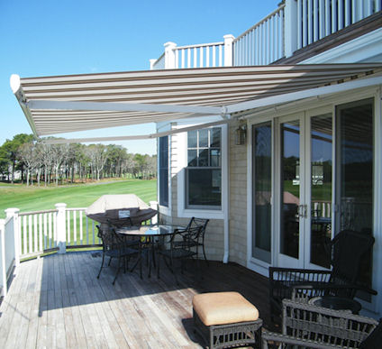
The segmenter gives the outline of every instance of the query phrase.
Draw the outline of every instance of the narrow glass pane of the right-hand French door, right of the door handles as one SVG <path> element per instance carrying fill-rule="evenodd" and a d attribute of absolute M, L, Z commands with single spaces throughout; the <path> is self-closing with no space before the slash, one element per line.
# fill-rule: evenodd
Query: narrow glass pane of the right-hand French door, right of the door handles
<path fill-rule="evenodd" d="M 311 119 L 310 262 L 330 268 L 332 239 L 332 114 Z"/>

